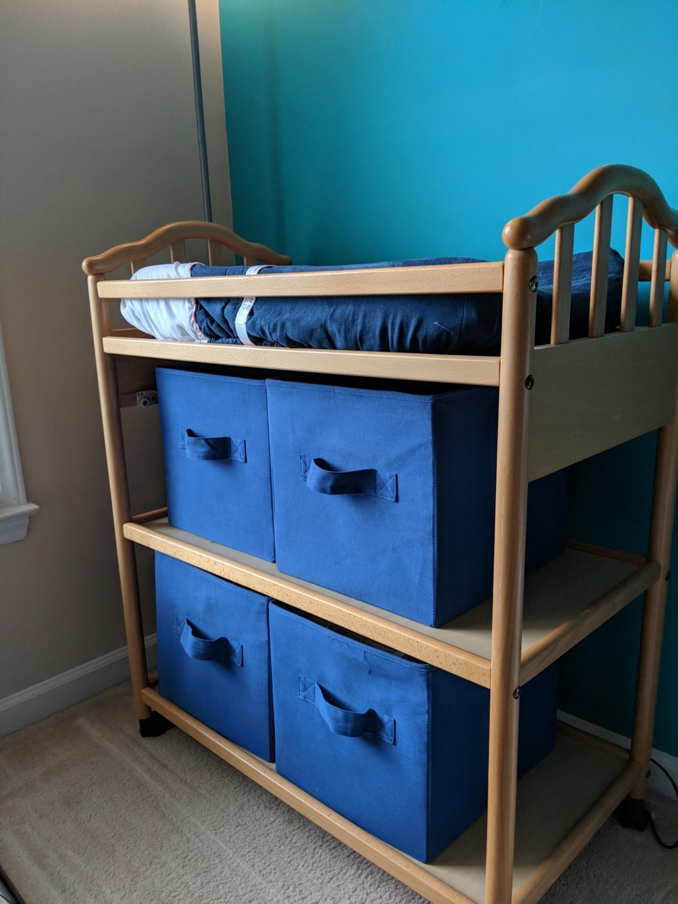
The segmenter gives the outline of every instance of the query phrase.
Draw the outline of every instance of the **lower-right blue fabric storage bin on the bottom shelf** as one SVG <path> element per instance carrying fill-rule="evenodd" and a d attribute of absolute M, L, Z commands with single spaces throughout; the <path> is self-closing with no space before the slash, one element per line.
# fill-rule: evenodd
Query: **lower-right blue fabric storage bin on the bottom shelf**
<path fill-rule="evenodd" d="M 271 604 L 276 768 L 420 861 L 482 815 L 489 691 Z M 557 669 L 523 687 L 518 769 L 556 737 Z"/>

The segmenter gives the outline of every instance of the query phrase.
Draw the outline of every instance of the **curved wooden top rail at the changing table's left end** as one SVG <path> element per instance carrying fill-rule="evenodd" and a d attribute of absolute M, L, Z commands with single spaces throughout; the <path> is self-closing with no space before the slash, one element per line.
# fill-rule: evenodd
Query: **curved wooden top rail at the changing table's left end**
<path fill-rule="evenodd" d="M 95 255 L 93 258 L 85 258 L 82 261 L 82 269 L 88 276 L 110 273 L 111 270 L 115 270 L 123 264 L 134 263 L 134 261 L 146 261 L 146 258 L 157 254 L 158 251 L 162 251 L 168 245 L 177 245 L 187 239 L 217 241 L 221 245 L 230 248 L 231 251 L 235 251 L 236 254 L 240 254 L 242 258 L 261 260 L 265 264 L 284 266 L 292 263 L 292 260 L 287 255 L 278 254 L 276 251 L 267 248 L 266 245 L 259 245 L 256 242 L 241 239 L 235 232 L 225 226 L 220 226 L 218 223 L 184 220 L 161 226 L 160 229 L 156 229 L 155 232 L 147 235 L 146 239 L 127 241 L 122 245 L 116 245 L 115 248 L 104 251 L 103 254 Z"/>

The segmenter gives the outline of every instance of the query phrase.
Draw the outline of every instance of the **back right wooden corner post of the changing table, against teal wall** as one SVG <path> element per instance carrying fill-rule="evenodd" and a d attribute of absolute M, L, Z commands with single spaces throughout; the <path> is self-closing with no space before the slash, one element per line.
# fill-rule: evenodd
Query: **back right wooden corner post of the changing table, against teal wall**
<path fill-rule="evenodd" d="M 678 323 L 678 251 L 673 252 L 669 286 L 669 323 Z M 647 794 L 647 773 L 652 754 L 654 711 L 659 685 L 659 663 L 664 634 L 664 613 L 669 585 L 673 515 L 675 513 L 676 482 L 678 480 L 678 386 L 673 407 L 673 420 L 657 433 L 654 464 L 654 491 L 650 540 L 647 559 L 659 562 L 660 575 L 645 592 L 643 628 L 640 636 L 640 657 L 636 683 L 636 711 L 631 739 L 631 758 L 640 763 L 641 777 L 631 796 L 643 799 Z"/>

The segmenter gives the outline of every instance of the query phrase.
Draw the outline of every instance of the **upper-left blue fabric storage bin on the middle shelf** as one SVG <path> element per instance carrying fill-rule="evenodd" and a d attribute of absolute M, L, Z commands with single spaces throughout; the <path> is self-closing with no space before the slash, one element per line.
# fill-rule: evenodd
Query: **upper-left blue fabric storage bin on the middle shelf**
<path fill-rule="evenodd" d="M 265 381 L 155 375 L 169 523 L 275 561 Z"/>

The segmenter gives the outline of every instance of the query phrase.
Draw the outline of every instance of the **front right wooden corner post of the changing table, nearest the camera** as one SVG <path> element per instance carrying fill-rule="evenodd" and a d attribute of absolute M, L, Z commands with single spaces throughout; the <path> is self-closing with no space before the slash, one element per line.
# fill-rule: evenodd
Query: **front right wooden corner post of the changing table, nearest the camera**
<path fill-rule="evenodd" d="M 494 521 L 486 904 L 509 904 L 518 759 L 518 686 L 523 634 L 527 436 L 537 254 L 509 250 L 504 265 L 499 432 Z"/>

